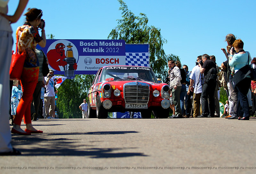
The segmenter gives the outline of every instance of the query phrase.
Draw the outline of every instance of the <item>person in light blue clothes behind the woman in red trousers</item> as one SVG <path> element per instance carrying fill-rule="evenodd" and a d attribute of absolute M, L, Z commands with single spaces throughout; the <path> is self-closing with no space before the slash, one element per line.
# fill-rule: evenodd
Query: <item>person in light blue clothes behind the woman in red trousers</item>
<path fill-rule="evenodd" d="M 16 115 L 17 106 L 19 104 L 19 93 L 21 94 L 22 91 L 18 89 L 18 80 L 13 80 L 12 97 L 11 97 L 11 108 L 12 108 L 13 118 Z"/>

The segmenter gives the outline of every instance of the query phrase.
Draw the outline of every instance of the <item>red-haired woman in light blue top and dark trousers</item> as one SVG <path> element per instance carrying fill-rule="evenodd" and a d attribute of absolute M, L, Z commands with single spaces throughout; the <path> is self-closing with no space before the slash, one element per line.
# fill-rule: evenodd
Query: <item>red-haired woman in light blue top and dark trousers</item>
<path fill-rule="evenodd" d="M 236 73 L 239 69 L 249 64 L 248 58 L 250 61 L 251 56 L 248 51 L 244 51 L 244 42 L 241 39 L 236 40 L 233 43 L 233 47 L 235 48 L 237 54 L 233 55 L 232 49 L 230 50 L 229 66 L 234 67 Z M 237 116 L 239 116 L 238 120 L 249 120 L 250 118 L 249 103 L 247 99 L 247 93 L 249 91 L 250 85 L 251 77 L 248 75 L 242 79 L 235 87 L 238 98 L 236 111 Z"/>

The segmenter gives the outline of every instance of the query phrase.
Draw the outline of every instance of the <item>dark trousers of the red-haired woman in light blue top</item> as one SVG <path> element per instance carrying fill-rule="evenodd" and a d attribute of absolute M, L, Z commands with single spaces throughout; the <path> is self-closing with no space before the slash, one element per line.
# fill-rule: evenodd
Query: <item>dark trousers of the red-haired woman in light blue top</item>
<path fill-rule="evenodd" d="M 240 81 L 235 87 L 238 99 L 236 110 L 236 115 L 238 117 L 250 117 L 249 103 L 247 98 L 247 93 L 250 86 L 251 78 L 246 77 L 242 81 Z"/>

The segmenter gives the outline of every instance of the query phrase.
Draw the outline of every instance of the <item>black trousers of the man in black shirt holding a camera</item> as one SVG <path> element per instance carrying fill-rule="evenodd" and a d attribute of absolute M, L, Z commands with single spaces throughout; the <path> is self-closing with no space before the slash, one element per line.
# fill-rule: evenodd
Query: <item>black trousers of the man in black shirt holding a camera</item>
<path fill-rule="evenodd" d="M 214 100 L 214 91 L 216 87 L 216 80 L 212 80 L 209 82 L 204 82 L 202 87 L 202 94 L 201 94 L 201 104 L 202 104 L 202 115 L 207 117 L 210 115 L 214 117 L 215 113 L 215 100 Z M 209 99 L 209 103 L 208 103 Z"/>

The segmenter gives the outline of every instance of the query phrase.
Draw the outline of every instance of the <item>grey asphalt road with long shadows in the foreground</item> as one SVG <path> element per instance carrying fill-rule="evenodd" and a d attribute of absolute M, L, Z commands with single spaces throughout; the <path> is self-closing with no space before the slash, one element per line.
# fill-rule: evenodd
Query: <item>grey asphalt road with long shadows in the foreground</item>
<path fill-rule="evenodd" d="M 256 118 L 42 119 L 32 124 L 44 133 L 12 134 L 22 155 L 1 156 L 1 174 L 256 173 Z"/>

